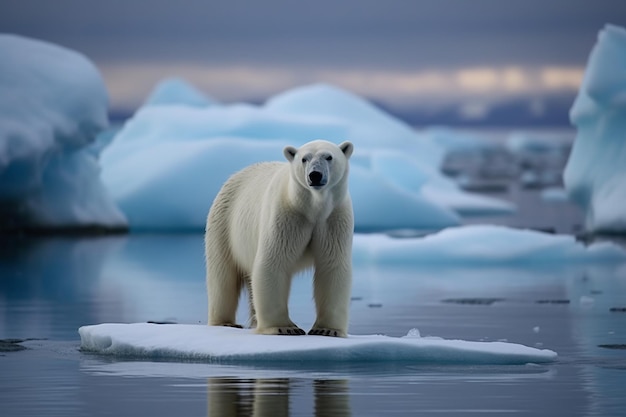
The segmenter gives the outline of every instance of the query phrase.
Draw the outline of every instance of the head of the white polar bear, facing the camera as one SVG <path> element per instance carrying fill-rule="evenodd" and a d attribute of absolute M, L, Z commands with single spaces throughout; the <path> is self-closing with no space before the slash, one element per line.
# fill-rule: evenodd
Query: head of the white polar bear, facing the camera
<path fill-rule="evenodd" d="M 348 159 L 353 150 L 350 142 L 337 146 L 325 140 L 315 140 L 299 149 L 287 146 L 283 153 L 298 183 L 305 188 L 323 190 L 347 179 Z"/>

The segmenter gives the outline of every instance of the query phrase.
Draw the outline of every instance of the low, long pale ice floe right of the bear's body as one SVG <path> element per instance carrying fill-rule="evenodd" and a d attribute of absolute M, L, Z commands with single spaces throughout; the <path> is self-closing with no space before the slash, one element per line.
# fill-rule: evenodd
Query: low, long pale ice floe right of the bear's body
<path fill-rule="evenodd" d="M 355 235 L 356 260 L 420 265 L 514 265 L 626 261 L 610 242 L 586 247 L 570 235 L 552 235 L 502 226 L 452 227 L 423 238 Z"/>

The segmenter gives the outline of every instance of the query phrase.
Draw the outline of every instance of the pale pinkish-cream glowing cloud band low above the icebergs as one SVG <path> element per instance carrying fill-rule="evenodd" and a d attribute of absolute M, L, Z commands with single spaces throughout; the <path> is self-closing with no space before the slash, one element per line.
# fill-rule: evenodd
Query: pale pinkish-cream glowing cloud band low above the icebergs
<path fill-rule="evenodd" d="M 476 100 L 469 113 L 485 103 L 510 97 L 575 93 L 584 68 L 577 66 L 464 67 L 459 69 L 293 69 L 248 65 L 208 66 L 185 62 L 119 62 L 100 66 L 113 108 L 139 105 L 161 79 L 178 76 L 223 101 L 264 99 L 285 89 L 316 82 L 338 85 L 389 104 L 424 102 L 442 105 Z M 480 104 L 480 106 L 479 106 Z M 470 111 L 471 110 L 471 111 Z"/>

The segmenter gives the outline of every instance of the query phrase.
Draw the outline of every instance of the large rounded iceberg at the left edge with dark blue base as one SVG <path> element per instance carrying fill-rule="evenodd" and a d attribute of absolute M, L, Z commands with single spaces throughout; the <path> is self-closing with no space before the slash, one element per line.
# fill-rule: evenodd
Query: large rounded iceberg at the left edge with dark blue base
<path fill-rule="evenodd" d="M 81 54 L 0 35 L 0 229 L 124 227 L 89 145 L 107 94 Z"/>

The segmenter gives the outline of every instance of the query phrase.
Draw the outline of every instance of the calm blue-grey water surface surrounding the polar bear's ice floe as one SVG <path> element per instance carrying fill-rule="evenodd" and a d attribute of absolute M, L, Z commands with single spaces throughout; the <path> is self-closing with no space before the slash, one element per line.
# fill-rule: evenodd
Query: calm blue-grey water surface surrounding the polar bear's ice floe
<path fill-rule="evenodd" d="M 78 350 L 82 325 L 206 323 L 201 235 L 0 248 L 0 339 L 37 339 L 0 344 L 2 416 L 626 415 L 626 265 L 355 265 L 350 333 L 507 340 L 557 351 L 553 364 L 239 367 Z M 310 276 L 290 309 L 311 326 Z"/>

